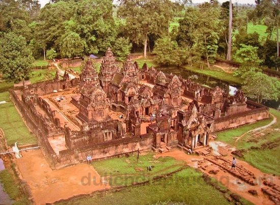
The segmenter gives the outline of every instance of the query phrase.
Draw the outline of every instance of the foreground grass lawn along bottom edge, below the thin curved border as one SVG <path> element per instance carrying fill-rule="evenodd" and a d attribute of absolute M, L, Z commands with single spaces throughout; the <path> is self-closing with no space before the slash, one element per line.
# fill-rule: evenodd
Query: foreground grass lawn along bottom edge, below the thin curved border
<path fill-rule="evenodd" d="M 96 193 L 91 197 L 63 204 L 167 204 L 166 202 L 229 204 L 218 190 L 204 182 L 201 175 L 202 173 L 187 168 L 170 178 L 161 179 L 145 186 L 127 187 L 118 192 Z"/>

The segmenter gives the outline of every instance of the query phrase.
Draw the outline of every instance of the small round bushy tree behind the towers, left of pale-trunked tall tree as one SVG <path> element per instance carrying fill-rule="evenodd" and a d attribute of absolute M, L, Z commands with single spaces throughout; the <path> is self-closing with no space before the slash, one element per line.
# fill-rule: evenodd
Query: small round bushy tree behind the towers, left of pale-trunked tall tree
<path fill-rule="evenodd" d="M 128 38 L 120 37 L 113 45 L 112 51 L 114 52 L 118 61 L 125 61 L 126 56 L 130 53 L 131 47 L 132 44 L 129 43 Z"/>

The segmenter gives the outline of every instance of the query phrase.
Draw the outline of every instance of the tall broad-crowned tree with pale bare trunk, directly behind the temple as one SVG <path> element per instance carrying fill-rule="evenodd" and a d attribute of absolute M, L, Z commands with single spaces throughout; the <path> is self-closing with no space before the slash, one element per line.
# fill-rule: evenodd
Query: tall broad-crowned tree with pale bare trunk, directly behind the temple
<path fill-rule="evenodd" d="M 125 17 L 124 29 L 129 38 L 135 42 L 143 42 L 144 57 L 147 56 L 148 35 L 169 33 L 169 22 L 176 10 L 170 0 L 119 0 L 118 16 Z"/>

